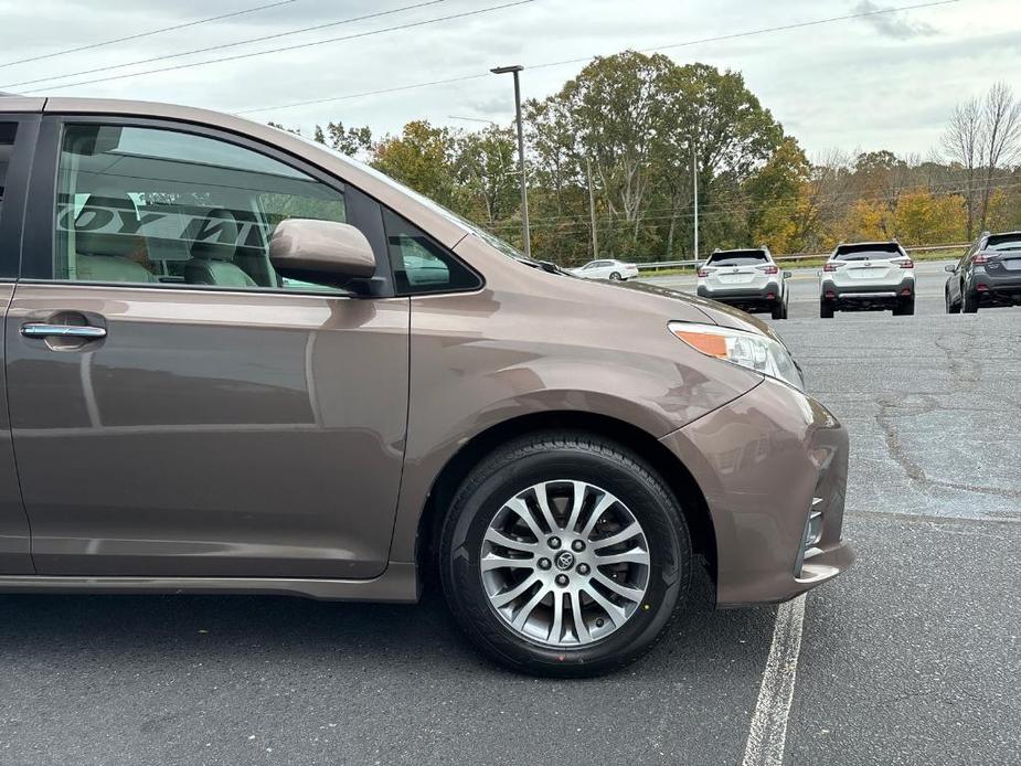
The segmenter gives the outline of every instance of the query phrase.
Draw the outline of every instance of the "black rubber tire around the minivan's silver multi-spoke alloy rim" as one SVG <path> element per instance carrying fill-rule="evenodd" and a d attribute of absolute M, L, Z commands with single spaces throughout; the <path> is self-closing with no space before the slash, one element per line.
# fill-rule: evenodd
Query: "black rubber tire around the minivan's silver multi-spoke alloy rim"
<path fill-rule="evenodd" d="M 515 632 L 490 605 L 479 571 L 482 535 L 511 497 L 541 481 L 589 481 L 614 493 L 646 531 L 648 588 L 641 608 L 614 632 L 581 647 L 553 647 Z M 440 536 L 444 594 L 462 630 L 486 655 L 513 670 L 577 678 L 621 668 L 656 642 L 687 602 L 691 539 L 666 482 L 640 457 L 579 432 L 522 437 L 486 457 L 455 496 Z"/>

